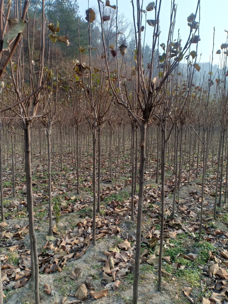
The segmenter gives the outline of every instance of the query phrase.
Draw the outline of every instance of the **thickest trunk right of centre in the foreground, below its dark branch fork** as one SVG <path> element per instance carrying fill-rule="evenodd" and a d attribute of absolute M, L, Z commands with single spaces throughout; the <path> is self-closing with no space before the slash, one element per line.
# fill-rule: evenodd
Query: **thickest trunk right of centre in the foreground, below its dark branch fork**
<path fill-rule="evenodd" d="M 140 254 L 141 254 L 141 230 L 142 230 L 142 212 L 143 212 L 143 188 L 144 188 L 144 166 L 146 161 L 146 131 L 147 122 L 143 121 L 140 126 L 140 168 L 139 168 L 139 201 L 137 213 L 137 227 L 136 227 L 136 248 L 135 248 L 135 271 L 133 282 L 133 299 L 132 304 L 138 302 L 138 285 L 140 276 Z"/>

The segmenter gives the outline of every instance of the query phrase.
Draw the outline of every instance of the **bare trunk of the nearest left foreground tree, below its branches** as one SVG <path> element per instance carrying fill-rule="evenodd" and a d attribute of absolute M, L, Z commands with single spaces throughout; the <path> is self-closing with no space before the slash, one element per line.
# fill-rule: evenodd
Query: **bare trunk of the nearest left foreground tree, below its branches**
<path fill-rule="evenodd" d="M 33 187 L 32 187 L 32 170 L 31 170 L 31 150 L 30 150 L 30 123 L 26 122 L 24 126 L 24 141 L 25 141 L 25 172 L 26 172 L 26 185 L 27 185 L 27 206 L 29 214 L 29 237 L 31 246 L 31 270 L 32 278 L 34 278 L 34 292 L 35 303 L 40 304 L 39 297 L 39 261 L 37 254 L 37 240 L 34 229 L 33 217 Z M 33 258 L 32 258 L 33 256 Z M 31 283 L 31 287 L 33 282 Z"/>

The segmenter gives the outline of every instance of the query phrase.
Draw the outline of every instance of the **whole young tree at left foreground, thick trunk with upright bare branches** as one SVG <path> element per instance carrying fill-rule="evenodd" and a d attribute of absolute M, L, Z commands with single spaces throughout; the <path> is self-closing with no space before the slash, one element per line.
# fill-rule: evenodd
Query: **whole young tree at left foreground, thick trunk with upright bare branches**
<path fill-rule="evenodd" d="M 28 61 L 27 61 L 27 70 L 29 71 L 29 84 L 24 81 L 25 74 L 25 62 L 23 50 L 23 40 L 21 39 L 22 31 L 25 27 L 25 18 L 28 5 L 30 1 L 25 1 L 23 11 L 21 12 L 21 17 L 18 16 L 19 4 L 14 6 L 15 18 L 9 19 L 11 22 L 10 30 L 5 34 L 7 27 L 8 18 L 5 17 L 5 22 L 2 24 L 3 11 L 8 7 L 10 10 L 9 1 L 8 4 L 4 7 L 4 1 L 0 2 L 0 12 L 1 12 L 1 23 L 0 23 L 0 33 L 4 37 L 2 50 L 0 56 L 2 56 L 2 51 L 9 50 L 8 56 L 3 59 L 2 69 L 0 71 L 0 77 L 2 76 L 3 71 L 5 70 L 7 64 L 9 63 L 11 79 L 12 79 L 12 94 L 8 96 L 8 104 L 4 104 L 5 107 L 1 109 L 3 111 L 9 111 L 10 117 L 13 117 L 22 127 L 23 138 L 24 138 L 24 161 L 25 161 L 25 173 L 26 173 L 26 201 L 27 201 L 27 210 L 28 210 L 28 219 L 29 219 L 29 238 L 30 238 L 30 253 L 31 253 L 31 272 L 32 278 L 29 283 L 29 287 L 34 290 L 35 293 L 35 303 L 40 303 L 39 296 L 39 262 L 38 262 L 38 252 L 37 252 L 37 240 L 34 227 L 34 212 L 33 212 L 33 186 L 32 186 L 32 169 L 31 169 L 31 127 L 33 122 L 40 117 L 47 115 L 47 109 L 49 109 L 50 114 L 50 100 L 45 98 L 47 94 L 46 83 L 48 78 L 44 79 L 44 52 L 45 52 L 45 27 L 46 27 L 46 18 L 45 18 L 45 5 L 44 0 L 42 0 L 42 26 L 40 31 L 40 54 L 39 61 L 37 64 L 36 72 L 33 69 L 32 65 L 35 64 L 33 61 L 33 49 L 30 50 L 30 35 L 31 31 L 29 28 L 29 22 L 27 24 L 27 42 L 28 42 Z M 7 13 L 8 14 L 8 13 Z M 5 15 L 4 15 L 5 16 Z M 7 15 L 9 17 L 9 15 Z M 59 31 L 54 28 L 53 24 L 50 24 L 49 27 L 52 30 L 51 39 L 58 40 L 60 42 L 68 43 L 68 38 L 66 36 L 59 36 L 56 33 Z M 5 35 L 5 36 L 4 36 Z M 33 23 L 33 35 L 34 35 L 34 23 Z M 33 39 L 34 41 L 34 36 Z M 12 48 L 10 50 L 10 45 Z M 16 63 L 13 65 L 12 56 L 16 52 L 14 60 Z M 4 58 L 4 56 L 3 56 Z M 50 74 L 49 74 L 50 76 Z M 57 81 L 57 80 L 56 80 Z M 53 84 L 53 80 L 51 80 Z M 9 85 L 11 85 L 9 83 Z M 38 106 L 40 101 L 46 101 L 47 104 L 43 106 L 43 111 L 38 114 Z M 52 116 L 49 117 L 49 122 L 52 121 Z M 13 143 L 12 143 L 13 148 Z M 13 159 L 13 150 L 12 150 L 12 159 Z M 13 165 L 13 163 L 12 163 Z M 50 166 L 49 166 L 50 168 Z M 50 181 L 50 174 L 49 174 Z M 50 183 L 49 183 L 50 184 Z M 50 185 L 49 185 L 50 190 Z M 50 191 L 49 191 L 50 194 Z M 51 205 L 51 202 L 50 202 Z M 50 206 L 51 209 L 51 206 Z M 51 213 L 51 210 L 50 210 Z M 51 219 L 51 215 L 50 215 Z"/>

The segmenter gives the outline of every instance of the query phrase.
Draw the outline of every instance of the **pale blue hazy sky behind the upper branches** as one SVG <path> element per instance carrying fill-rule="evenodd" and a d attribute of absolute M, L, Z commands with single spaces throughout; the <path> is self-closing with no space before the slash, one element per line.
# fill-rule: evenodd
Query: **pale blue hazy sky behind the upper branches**
<path fill-rule="evenodd" d="M 104 0 L 105 2 L 105 0 Z M 146 9 L 150 0 L 143 1 L 143 9 Z M 154 1 L 155 2 L 155 1 Z M 174 37 L 178 37 L 178 29 L 182 38 L 182 46 L 185 44 L 189 35 L 189 26 L 187 25 L 187 17 L 194 12 L 197 6 L 197 0 L 176 0 L 177 15 L 176 25 L 174 30 Z M 140 3 L 142 3 L 140 1 Z M 110 0 L 111 5 L 116 5 L 116 0 Z M 78 0 L 80 15 L 85 17 L 85 10 L 88 9 L 88 0 Z M 136 7 L 136 0 L 134 0 Z M 98 7 L 97 0 L 89 0 L 89 7 Z M 169 29 L 171 0 L 162 0 L 160 12 L 160 29 L 161 35 L 159 43 L 167 43 L 167 35 Z M 127 19 L 133 23 L 133 10 L 130 0 L 118 0 L 119 12 L 123 12 Z M 216 51 L 220 49 L 222 43 L 226 43 L 226 32 L 228 30 L 228 0 L 201 0 L 200 3 L 200 38 L 198 45 L 198 54 L 202 54 L 201 62 L 208 62 L 212 54 L 213 28 L 215 27 L 215 47 L 214 47 L 214 61 L 213 64 L 218 64 L 219 55 Z M 143 14 L 144 15 L 144 14 Z M 199 16 L 199 11 L 198 11 Z M 196 21 L 199 20 L 197 16 Z M 154 10 L 147 12 L 147 19 L 154 19 Z M 107 21 L 108 22 L 108 21 Z M 144 22 L 145 23 L 145 17 Z M 153 27 L 147 25 L 145 42 L 150 46 L 152 44 Z M 191 50 L 195 50 L 196 44 L 193 44 Z M 160 50 L 161 51 L 161 50 Z M 199 60 L 199 59 L 198 59 Z"/>

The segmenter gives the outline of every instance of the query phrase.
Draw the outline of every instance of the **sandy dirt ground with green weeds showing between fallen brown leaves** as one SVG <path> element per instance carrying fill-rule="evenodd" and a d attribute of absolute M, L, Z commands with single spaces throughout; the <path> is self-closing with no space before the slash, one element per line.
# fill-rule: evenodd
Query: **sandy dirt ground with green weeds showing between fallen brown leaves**
<path fill-rule="evenodd" d="M 6 171 L 7 172 L 7 171 Z M 88 165 L 88 172 L 91 175 L 91 170 Z M 130 186 L 129 181 L 130 179 L 130 169 L 128 169 L 128 174 L 126 178 L 123 180 L 118 181 L 118 191 L 117 201 L 122 200 L 123 202 L 129 202 L 128 198 L 130 197 Z M 10 171 L 7 172 L 10 176 Z M 41 175 L 42 176 L 42 175 Z M 60 176 L 60 175 L 59 175 Z M 71 174 L 71 171 L 66 174 L 69 179 L 72 179 L 74 176 Z M 168 175 L 168 178 L 171 175 Z M 63 177 L 63 180 L 67 179 Z M 76 196 L 74 203 L 76 205 L 84 205 L 86 207 L 86 212 L 81 213 L 80 210 L 77 212 L 70 212 L 70 213 L 63 213 L 60 217 L 60 223 L 58 224 L 58 236 L 64 236 L 66 232 L 71 229 L 73 230 L 74 227 L 78 222 L 80 222 L 83 218 L 90 219 L 91 217 L 91 207 L 92 206 L 92 192 L 91 192 L 91 180 L 84 179 L 81 182 L 80 187 L 82 188 L 80 196 L 77 196 L 74 192 L 74 182 L 71 181 L 72 185 L 67 184 L 66 190 L 64 190 L 61 194 L 63 194 L 64 198 L 69 198 L 72 196 Z M 156 197 L 159 197 L 159 193 L 161 191 L 159 185 L 155 185 L 154 177 L 150 177 L 149 173 L 146 173 L 145 176 L 145 199 L 144 203 L 145 206 L 148 204 L 148 198 L 152 197 L 152 202 L 156 200 Z M 59 181 L 62 182 L 61 180 Z M 67 182 L 66 182 L 67 183 Z M 70 182 L 69 182 L 70 184 Z M 43 246 L 47 243 L 45 239 L 48 233 L 48 213 L 44 212 L 47 211 L 47 199 L 40 199 L 44 196 L 45 190 L 39 188 L 39 183 L 36 181 L 34 182 L 34 197 L 35 197 L 35 226 L 36 226 L 36 236 L 37 236 L 37 244 L 38 244 L 38 251 L 41 252 L 43 250 Z M 42 184 L 41 184 L 42 185 Z M 21 189 L 19 185 L 18 189 Z M 115 198 L 115 191 L 113 189 L 115 184 L 108 183 L 103 181 L 102 182 L 102 195 L 104 198 L 110 197 L 110 199 L 106 199 L 102 202 L 102 216 L 106 216 L 109 212 L 109 203 L 110 201 Z M 168 188 L 168 185 L 167 185 Z M 57 187 L 56 187 L 57 189 Z M 55 189 L 55 190 L 56 190 Z M 61 188 L 59 188 L 61 190 Z M 23 190 L 23 189 L 22 189 Z M 54 190 L 54 195 L 55 195 Z M 151 191 L 153 192 L 151 194 Z M 181 189 L 179 193 L 179 204 L 180 204 L 180 212 L 175 214 L 176 219 L 180 219 L 183 225 L 188 226 L 188 222 L 192 221 L 192 223 L 199 223 L 199 214 L 200 214 L 200 204 L 199 199 L 192 199 L 192 193 L 196 193 L 196 195 L 200 195 L 201 185 L 200 179 L 194 180 L 190 182 L 190 185 L 186 185 L 186 182 L 181 184 Z M 57 193 L 57 192 L 56 192 Z M 58 192 L 59 193 L 59 192 Z M 105 196 L 106 195 L 106 196 Z M 114 196 L 113 196 L 114 195 Z M 24 210 L 20 209 L 21 202 L 25 199 L 25 192 L 19 192 L 18 197 L 16 199 L 12 199 L 10 197 L 10 192 L 6 195 L 7 206 L 16 205 L 15 209 L 7 209 L 6 207 L 6 222 L 8 224 L 7 227 L 2 228 L 4 231 L 9 227 L 13 227 L 15 224 L 18 224 L 20 227 L 26 226 L 28 224 L 27 216 L 12 216 L 15 212 L 14 210 Z M 137 199 L 137 197 L 136 197 Z M 64 200 L 64 199 L 63 199 Z M 60 200 L 61 201 L 61 200 Z M 168 219 L 170 214 L 170 208 L 172 206 L 173 195 L 172 191 L 167 191 L 166 199 L 165 199 L 165 210 L 166 210 L 166 219 Z M 221 216 L 215 221 L 212 219 L 212 208 L 213 208 L 214 197 L 211 195 L 206 196 L 206 201 L 204 202 L 204 210 L 207 210 L 207 214 L 204 215 L 204 223 L 206 226 L 212 228 L 218 228 L 223 231 L 227 231 L 228 229 L 228 217 L 227 217 L 227 210 L 221 209 L 220 214 Z M 67 201 L 69 203 L 69 201 Z M 151 231 L 151 227 L 156 227 L 159 230 L 159 216 L 160 216 L 160 201 L 157 199 L 156 206 L 152 205 L 150 208 L 143 209 L 143 226 L 142 226 L 142 234 L 145 237 L 145 233 L 147 231 Z M 185 208 L 186 206 L 186 208 Z M 23 207 L 23 206 L 22 206 Z M 207 208 L 206 208 L 207 207 Z M 137 211 L 137 206 L 136 206 Z M 181 213 L 181 212 L 184 213 Z M 186 211 L 186 212 L 185 212 Z M 8 212 L 8 213 L 7 213 Z M 43 212 L 43 213 L 42 213 Z M 187 212 L 193 212 L 192 218 L 189 218 L 189 214 Z M 191 216 L 191 214 L 190 214 Z M 115 247 L 121 239 L 122 241 L 125 239 L 131 240 L 131 245 L 135 243 L 135 236 L 136 236 L 136 220 L 134 222 L 130 221 L 129 212 L 127 216 L 123 216 L 118 224 L 119 232 L 116 234 L 107 234 L 104 237 L 97 240 L 97 246 L 93 247 L 92 244 L 87 248 L 85 254 L 77 259 L 74 260 L 70 258 L 66 261 L 66 264 L 62 267 L 61 272 L 55 271 L 49 274 L 44 274 L 43 272 L 40 273 L 40 303 L 41 304 L 57 304 L 57 303 L 90 303 L 90 302 L 97 302 L 101 304 L 108 304 L 108 303 L 131 303 L 131 298 L 133 295 L 133 273 L 128 272 L 125 277 L 119 278 L 120 284 L 119 288 L 114 291 L 112 288 L 109 288 L 109 292 L 107 293 L 106 297 L 101 299 L 94 300 L 90 296 L 84 301 L 77 301 L 74 294 L 78 289 L 80 284 L 84 284 L 88 278 L 92 278 L 92 286 L 95 291 L 102 290 L 105 288 L 105 283 L 102 280 L 102 268 L 104 263 L 101 261 L 102 258 L 106 258 L 103 254 L 104 251 L 109 251 L 110 247 Z M 155 229 L 155 228 L 154 228 Z M 177 228 L 178 229 L 178 228 Z M 157 231 L 157 230 L 156 230 Z M 168 231 L 168 228 L 167 228 Z M 165 247 L 173 248 L 173 247 L 180 247 L 181 250 L 186 251 L 186 253 L 197 254 L 199 253 L 199 248 L 195 246 L 195 240 L 197 237 L 197 233 L 180 233 L 181 237 L 178 238 L 177 243 L 175 243 L 175 237 L 171 237 L 165 239 Z M 142 239 L 142 242 L 145 239 Z M 16 251 L 15 255 L 12 255 L 12 252 L 8 249 L 8 246 L 5 244 L 9 241 L 8 239 L 1 240 L 0 243 L 0 253 L 1 253 L 1 260 L 2 264 L 7 264 L 7 256 L 11 256 L 11 264 L 18 266 L 18 259 L 19 259 L 19 252 Z M 227 241 L 227 238 L 226 238 Z M 29 249 L 29 234 L 27 233 L 23 238 L 22 242 L 26 248 Z M 173 243 L 173 244 L 172 244 Z M 159 240 L 157 242 L 159 244 Z M 12 244 L 11 244 L 12 245 Z M 144 244 L 145 245 L 145 244 Z M 144 246 L 143 245 L 143 246 Z M 171 246 L 171 247 L 169 247 Z M 145 248 L 145 247 L 143 247 Z M 171 250 L 170 249 L 170 250 Z M 227 248 L 226 248 L 227 249 Z M 170 251 L 169 250 L 169 251 Z M 13 258 L 12 258 L 13 257 Z M 175 260 L 174 260 L 175 261 Z M 210 288 L 202 288 L 203 285 L 203 277 L 194 276 L 192 271 L 190 272 L 191 279 L 188 277 L 188 273 L 186 275 L 176 275 L 172 269 L 170 269 L 171 265 L 168 265 L 165 261 L 163 262 L 163 268 L 166 273 L 163 276 L 163 290 L 162 292 L 157 292 L 157 266 L 149 265 L 147 262 L 141 263 L 141 274 L 140 274 L 140 284 L 139 284 L 139 303 L 146 304 L 146 303 L 153 303 L 153 304 L 182 304 L 188 303 L 188 299 L 183 293 L 183 288 L 185 286 L 192 287 L 192 294 L 190 295 L 195 303 L 201 303 L 201 297 L 209 297 L 211 295 Z M 190 268 L 192 266 L 189 266 Z M 189 268 L 188 267 L 188 268 Z M 71 271 L 74 268 L 80 268 L 81 274 L 78 278 L 74 281 L 70 278 Z M 195 269 L 195 268 L 194 268 Z M 194 272 L 194 271 L 193 271 Z M 197 272 L 198 275 L 198 272 Z M 199 282 L 197 282 L 199 280 Z M 44 292 L 44 284 L 48 284 L 50 286 L 51 294 L 48 295 Z M 17 288 L 9 290 L 5 289 L 5 303 L 10 304 L 33 304 L 34 297 L 33 291 L 29 290 L 29 284 Z M 226 303 L 224 301 L 223 303 Z"/>

